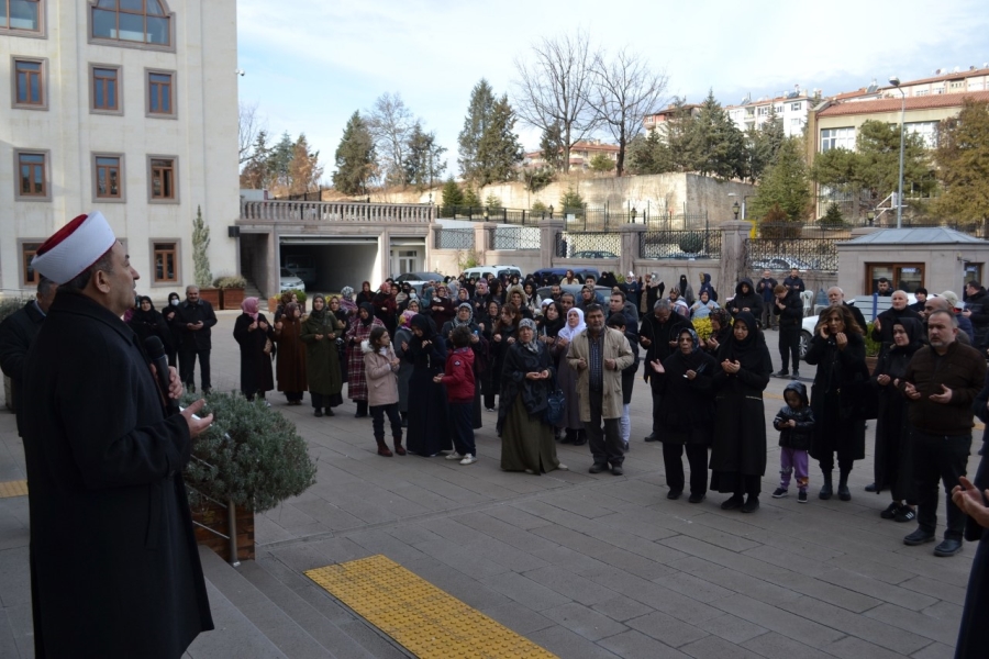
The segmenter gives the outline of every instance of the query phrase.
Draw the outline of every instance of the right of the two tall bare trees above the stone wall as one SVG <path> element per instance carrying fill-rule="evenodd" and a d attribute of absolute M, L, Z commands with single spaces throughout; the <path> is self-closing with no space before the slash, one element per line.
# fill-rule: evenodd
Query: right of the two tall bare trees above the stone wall
<path fill-rule="evenodd" d="M 611 59 L 598 55 L 591 65 L 593 88 L 589 102 L 618 143 L 615 176 L 625 168 L 629 143 L 642 131 L 646 114 L 653 112 L 666 94 L 667 76 L 654 70 L 648 60 L 622 48 Z"/>

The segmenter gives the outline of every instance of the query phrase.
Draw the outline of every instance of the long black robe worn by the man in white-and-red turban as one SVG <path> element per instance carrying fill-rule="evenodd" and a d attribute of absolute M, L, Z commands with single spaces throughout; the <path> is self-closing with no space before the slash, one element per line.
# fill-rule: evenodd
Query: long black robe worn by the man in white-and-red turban
<path fill-rule="evenodd" d="M 35 656 L 179 657 L 212 629 L 182 468 L 133 330 L 59 292 L 27 355 Z"/>

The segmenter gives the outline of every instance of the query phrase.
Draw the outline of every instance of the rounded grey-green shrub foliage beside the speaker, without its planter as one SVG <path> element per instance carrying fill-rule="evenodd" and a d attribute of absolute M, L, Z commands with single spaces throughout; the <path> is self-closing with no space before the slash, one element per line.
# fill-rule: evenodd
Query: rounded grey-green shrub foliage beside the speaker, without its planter
<path fill-rule="evenodd" d="M 186 394 L 182 404 L 197 400 Z M 213 414 L 213 425 L 197 437 L 186 482 L 216 501 L 233 501 L 255 513 L 298 496 L 315 483 L 316 467 L 296 424 L 264 401 L 248 401 L 236 392 L 205 396 L 201 416 Z"/>

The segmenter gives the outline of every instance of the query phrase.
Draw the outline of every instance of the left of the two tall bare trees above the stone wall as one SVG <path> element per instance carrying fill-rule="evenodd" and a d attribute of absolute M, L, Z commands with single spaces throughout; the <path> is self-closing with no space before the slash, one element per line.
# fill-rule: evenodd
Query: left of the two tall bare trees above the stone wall
<path fill-rule="evenodd" d="M 570 148 L 596 126 L 597 113 L 589 100 L 593 90 L 587 33 L 544 38 L 532 47 L 534 62 L 515 60 L 515 109 L 526 124 L 543 132 L 559 130 L 563 170 L 570 169 Z"/>

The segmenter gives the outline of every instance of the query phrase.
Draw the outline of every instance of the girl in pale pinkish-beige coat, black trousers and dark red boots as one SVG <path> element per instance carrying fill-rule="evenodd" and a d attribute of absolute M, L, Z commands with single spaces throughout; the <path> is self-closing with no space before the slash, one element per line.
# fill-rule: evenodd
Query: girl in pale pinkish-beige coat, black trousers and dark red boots
<path fill-rule="evenodd" d="M 370 407 L 375 442 L 378 455 L 392 456 L 385 444 L 385 415 L 391 424 L 395 453 L 405 455 L 402 447 L 402 420 L 398 413 L 398 370 L 401 362 L 391 347 L 391 337 L 382 326 L 371 328 L 370 336 L 360 344 L 364 353 L 364 369 L 367 375 L 367 404 Z"/>

